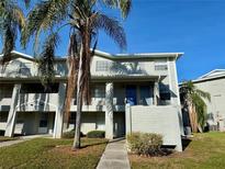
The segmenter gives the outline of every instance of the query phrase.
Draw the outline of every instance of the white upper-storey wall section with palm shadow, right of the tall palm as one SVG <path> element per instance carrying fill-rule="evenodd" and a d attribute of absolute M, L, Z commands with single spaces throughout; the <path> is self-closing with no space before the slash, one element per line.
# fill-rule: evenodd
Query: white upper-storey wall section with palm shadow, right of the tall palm
<path fill-rule="evenodd" d="M 148 78 L 168 75 L 166 60 L 109 60 L 94 58 L 91 65 L 94 78 Z"/>

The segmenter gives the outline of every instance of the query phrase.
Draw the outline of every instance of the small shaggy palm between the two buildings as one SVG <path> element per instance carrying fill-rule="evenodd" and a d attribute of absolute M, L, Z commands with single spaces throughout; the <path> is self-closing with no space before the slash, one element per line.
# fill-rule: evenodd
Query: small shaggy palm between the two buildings
<path fill-rule="evenodd" d="M 209 92 L 198 89 L 192 81 L 183 82 L 180 88 L 183 106 L 189 112 L 192 132 L 202 132 L 205 125 L 206 104 L 204 99 L 211 101 Z"/>

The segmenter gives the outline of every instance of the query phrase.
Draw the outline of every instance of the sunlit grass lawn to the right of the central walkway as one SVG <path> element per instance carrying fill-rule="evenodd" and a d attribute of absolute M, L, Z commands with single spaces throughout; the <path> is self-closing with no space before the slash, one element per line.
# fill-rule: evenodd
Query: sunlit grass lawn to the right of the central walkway
<path fill-rule="evenodd" d="M 183 153 L 166 157 L 130 155 L 134 169 L 223 169 L 225 168 L 225 133 L 196 134 Z"/>

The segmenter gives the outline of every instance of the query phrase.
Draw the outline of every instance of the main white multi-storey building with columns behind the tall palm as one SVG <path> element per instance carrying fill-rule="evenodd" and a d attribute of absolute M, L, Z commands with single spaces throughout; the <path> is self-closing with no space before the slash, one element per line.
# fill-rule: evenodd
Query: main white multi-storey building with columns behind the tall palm
<path fill-rule="evenodd" d="M 35 59 L 18 52 L 12 55 L 0 74 L 0 129 L 7 136 L 49 133 L 60 137 L 61 129 L 68 129 L 61 114 L 66 58 L 56 58 L 55 83 L 46 93 Z M 183 125 L 176 70 L 181 55 L 95 52 L 91 65 L 92 103 L 82 108 L 81 132 L 104 129 L 106 138 L 134 131 L 159 133 L 165 145 L 181 150 Z M 69 128 L 74 128 L 76 110 L 74 99 Z"/>

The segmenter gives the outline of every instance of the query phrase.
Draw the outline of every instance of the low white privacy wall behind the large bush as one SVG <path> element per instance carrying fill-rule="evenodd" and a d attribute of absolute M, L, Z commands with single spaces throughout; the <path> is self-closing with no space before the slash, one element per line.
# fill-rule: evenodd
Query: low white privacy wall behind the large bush
<path fill-rule="evenodd" d="M 173 145 L 177 146 L 177 150 L 182 150 L 179 108 L 177 106 L 128 106 L 126 133 L 131 132 L 161 134 L 164 145 Z"/>

